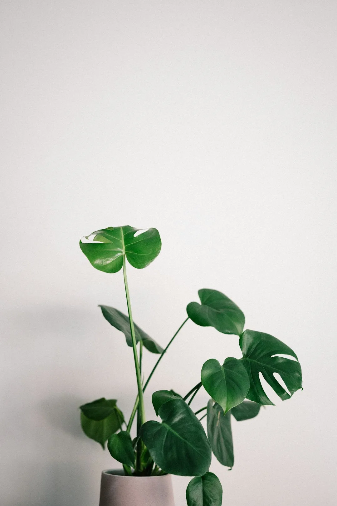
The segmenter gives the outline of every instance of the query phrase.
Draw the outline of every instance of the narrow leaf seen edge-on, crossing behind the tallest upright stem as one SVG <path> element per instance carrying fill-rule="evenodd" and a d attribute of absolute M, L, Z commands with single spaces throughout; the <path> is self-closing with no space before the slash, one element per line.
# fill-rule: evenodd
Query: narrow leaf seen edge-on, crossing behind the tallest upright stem
<path fill-rule="evenodd" d="M 126 344 L 132 347 L 132 338 L 130 331 L 130 320 L 127 315 L 118 311 L 118 309 L 112 308 L 110 306 L 99 306 L 102 309 L 102 313 L 104 318 L 112 325 L 113 327 L 120 330 L 125 335 Z M 147 348 L 152 353 L 162 353 L 164 350 L 158 343 L 148 335 L 146 332 L 141 330 L 138 325 L 133 322 L 134 325 L 134 334 L 136 338 L 136 343 L 139 341 L 143 342 L 145 348 Z"/>

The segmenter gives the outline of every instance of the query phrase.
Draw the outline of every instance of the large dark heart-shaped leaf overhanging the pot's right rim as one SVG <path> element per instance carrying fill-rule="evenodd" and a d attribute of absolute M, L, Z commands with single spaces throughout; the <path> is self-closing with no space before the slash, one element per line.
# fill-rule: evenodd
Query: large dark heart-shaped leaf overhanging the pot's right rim
<path fill-rule="evenodd" d="M 157 466 L 179 476 L 202 476 L 211 464 L 211 447 L 203 426 L 182 399 L 159 408 L 162 423 L 147 421 L 140 437 Z"/>

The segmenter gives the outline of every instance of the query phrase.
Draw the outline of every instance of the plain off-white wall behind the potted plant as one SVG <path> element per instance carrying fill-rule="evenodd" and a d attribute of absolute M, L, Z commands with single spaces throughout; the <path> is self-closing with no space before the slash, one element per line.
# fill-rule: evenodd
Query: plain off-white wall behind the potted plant
<path fill-rule="evenodd" d="M 128 269 L 158 342 L 216 288 L 302 363 L 303 392 L 233 423 L 233 470 L 213 458 L 223 504 L 334 505 L 335 0 L 2 0 L 1 20 L 2 506 L 97 506 L 116 466 L 78 406 L 131 409 L 132 352 L 97 307 L 126 311 L 122 274 L 78 241 L 126 224 L 161 233 L 156 261 Z M 226 356 L 236 337 L 189 321 L 148 418 L 151 391 L 186 393 Z"/>

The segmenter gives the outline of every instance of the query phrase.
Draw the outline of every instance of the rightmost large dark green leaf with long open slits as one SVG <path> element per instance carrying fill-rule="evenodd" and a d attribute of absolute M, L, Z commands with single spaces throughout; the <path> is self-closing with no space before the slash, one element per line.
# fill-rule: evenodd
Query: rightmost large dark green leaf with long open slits
<path fill-rule="evenodd" d="M 283 401 L 290 399 L 294 392 L 302 388 L 302 371 L 298 358 L 294 351 L 282 341 L 263 332 L 245 330 L 240 335 L 239 345 L 243 354 L 241 360 L 246 367 L 251 384 L 247 399 L 259 404 L 273 405 L 263 390 L 259 372 Z M 278 354 L 290 355 L 296 361 L 275 356 Z M 275 373 L 281 376 L 291 395 L 278 383 L 274 377 Z"/>

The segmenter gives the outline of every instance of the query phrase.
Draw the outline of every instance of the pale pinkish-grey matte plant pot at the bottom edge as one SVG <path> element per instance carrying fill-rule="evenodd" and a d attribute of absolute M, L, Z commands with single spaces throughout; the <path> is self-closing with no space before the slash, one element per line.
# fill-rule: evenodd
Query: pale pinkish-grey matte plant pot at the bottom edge
<path fill-rule="evenodd" d="M 174 506 L 170 475 L 125 476 L 124 471 L 102 473 L 100 506 Z"/>

